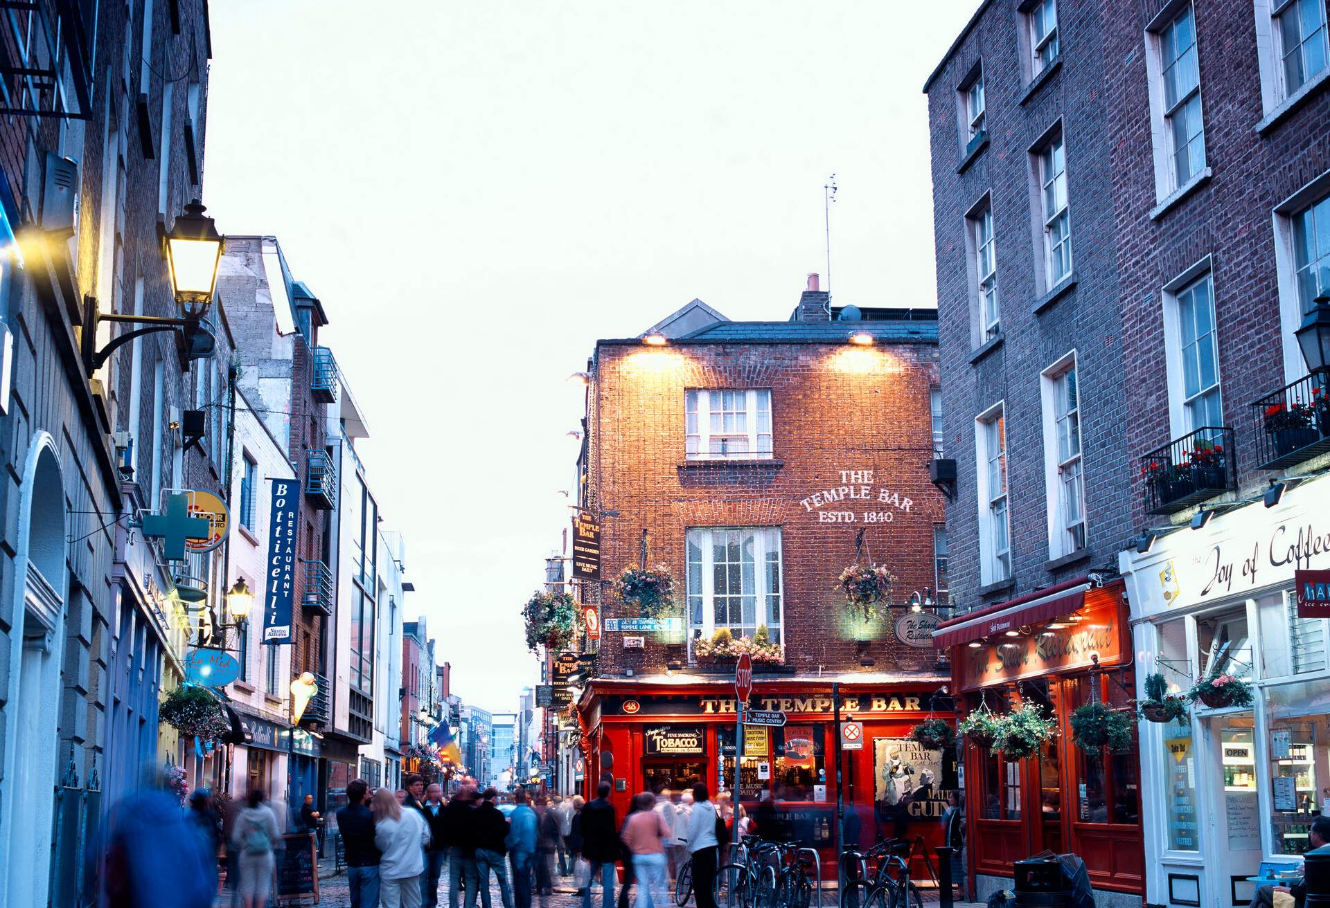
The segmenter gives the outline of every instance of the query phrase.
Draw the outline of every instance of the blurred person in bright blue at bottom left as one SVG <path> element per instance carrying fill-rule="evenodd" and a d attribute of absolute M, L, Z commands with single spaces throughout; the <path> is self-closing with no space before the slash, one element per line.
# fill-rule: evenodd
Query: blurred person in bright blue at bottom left
<path fill-rule="evenodd" d="M 211 908 L 217 860 L 210 873 L 197 827 L 176 795 L 157 788 L 128 795 L 109 824 L 109 908 Z"/>

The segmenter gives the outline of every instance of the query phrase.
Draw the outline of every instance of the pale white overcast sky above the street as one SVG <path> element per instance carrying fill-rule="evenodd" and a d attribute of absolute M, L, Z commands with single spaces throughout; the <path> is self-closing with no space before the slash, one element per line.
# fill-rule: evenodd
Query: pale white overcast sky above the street
<path fill-rule="evenodd" d="M 226 0 L 203 202 L 323 302 L 454 693 L 516 709 L 597 338 L 932 306 L 922 86 L 978 0 Z M 827 288 L 823 277 L 823 288 Z"/>

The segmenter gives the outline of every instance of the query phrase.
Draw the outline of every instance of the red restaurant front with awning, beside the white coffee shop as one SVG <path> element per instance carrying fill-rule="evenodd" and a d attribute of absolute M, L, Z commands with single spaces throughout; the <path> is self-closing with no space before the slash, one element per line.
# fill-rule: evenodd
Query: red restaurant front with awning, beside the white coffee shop
<path fill-rule="evenodd" d="M 1134 747 L 1081 750 L 1076 707 L 1133 709 L 1133 665 L 1121 581 L 1081 577 L 939 625 L 951 651 L 958 710 L 1005 714 L 1036 705 L 1057 734 L 1012 758 L 963 742 L 971 891 L 1011 888 L 1012 863 L 1044 850 L 1085 861 L 1100 903 L 1140 904 L 1145 887 L 1141 780 Z"/>

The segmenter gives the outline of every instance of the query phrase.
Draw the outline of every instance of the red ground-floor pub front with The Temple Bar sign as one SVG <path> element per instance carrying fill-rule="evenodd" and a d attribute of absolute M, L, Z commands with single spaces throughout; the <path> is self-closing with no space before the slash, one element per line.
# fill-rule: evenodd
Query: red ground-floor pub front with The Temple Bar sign
<path fill-rule="evenodd" d="M 955 755 L 924 748 L 908 733 L 930 717 L 952 719 L 947 681 L 759 674 L 749 709 L 781 713 L 785 725 L 737 730 L 732 678 L 596 678 L 579 703 L 589 770 L 583 794 L 593 798 L 598 782 L 612 778 L 622 815 L 633 794 L 657 784 L 681 791 L 701 782 L 713 796 L 733 792 L 738 759 L 738 802 L 755 832 L 818 848 L 823 879 L 834 879 L 838 695 L 839 718 L 859 725 L 842 751 L 847 838 L 862 846 L 922 839 L 931 855 L 942 844 L 947 792 L 958 787 Z"/>

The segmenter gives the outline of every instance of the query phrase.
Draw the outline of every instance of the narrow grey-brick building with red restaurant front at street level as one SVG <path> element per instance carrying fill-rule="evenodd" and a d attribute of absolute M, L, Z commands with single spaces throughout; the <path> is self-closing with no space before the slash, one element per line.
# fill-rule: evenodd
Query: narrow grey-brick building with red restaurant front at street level
<path fill-rule="evenodd" d="M 1125 633 L 1083 645 L 1085 626 L 1125 626 L 1112 578 L 1133 526 L 1105 85 L 1120 66 L 1103 41 L 1117 16 L 1099 3 L 983 3 L 924 85 L 943 455 L 958 492 L 958 614 L 938 639 L 967 709 L 1033 702 L 1063 730 L 1040 758 L 963 748 L 980 897 L 1045 847 L 1083 855 L 1104 899 L 1138 903 L 1144 885 L 1134 759 L 1083 754 L 1068 734 L 1072 709 L 1132 690 Z"/>

